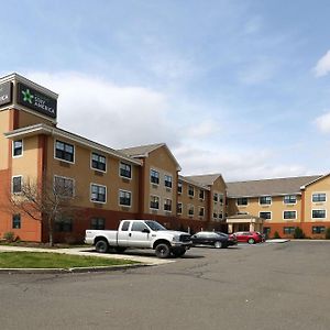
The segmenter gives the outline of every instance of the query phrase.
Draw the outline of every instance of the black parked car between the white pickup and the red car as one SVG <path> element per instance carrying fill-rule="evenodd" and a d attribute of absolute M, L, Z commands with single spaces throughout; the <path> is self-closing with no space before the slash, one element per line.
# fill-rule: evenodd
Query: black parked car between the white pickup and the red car
<path fill-rule="evenodd" d="M 235 235 L 228 235 L 223 232 L 200 231 L 191 235 L 193 245 L 211 245 L 217 249 L 228 248 L 238 244 Z"/>

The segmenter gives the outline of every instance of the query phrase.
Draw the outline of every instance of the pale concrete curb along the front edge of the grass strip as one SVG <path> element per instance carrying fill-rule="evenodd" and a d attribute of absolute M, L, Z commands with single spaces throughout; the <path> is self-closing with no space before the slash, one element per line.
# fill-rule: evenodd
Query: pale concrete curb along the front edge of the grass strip
<path fill-rule="evenodd" d="M 74 267 L 74 268 L 0 268 L 0 274 L 81 274 L 81 273 L 101 273 L 111 271 L 123 271 L 130 268 L 140 268 L 154 266 L 153 264 L 131 264 L 99 267 Z"/>

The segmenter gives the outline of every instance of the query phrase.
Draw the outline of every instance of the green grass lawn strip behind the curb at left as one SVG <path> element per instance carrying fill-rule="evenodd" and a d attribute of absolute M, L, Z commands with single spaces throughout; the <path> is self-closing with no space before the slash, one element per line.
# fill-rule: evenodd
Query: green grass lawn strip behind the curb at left
<path fill-rule="evenodd" d="M 128 260 L 50 252 L 1 252 L 0 268 L 73 268 L 136 264 Z"/>

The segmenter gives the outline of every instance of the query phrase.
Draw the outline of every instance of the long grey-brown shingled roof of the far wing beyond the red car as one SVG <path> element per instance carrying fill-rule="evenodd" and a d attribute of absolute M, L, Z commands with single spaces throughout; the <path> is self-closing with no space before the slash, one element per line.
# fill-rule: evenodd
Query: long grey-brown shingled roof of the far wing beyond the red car
<path fill-rule="evenodd" d="M 257 197 L 280 196 L 300 194 L 300 187 L 305 186 L 321 175 L 297 176 L 275 179 L 250 180 L 227 183 L 228 197 Z"/>

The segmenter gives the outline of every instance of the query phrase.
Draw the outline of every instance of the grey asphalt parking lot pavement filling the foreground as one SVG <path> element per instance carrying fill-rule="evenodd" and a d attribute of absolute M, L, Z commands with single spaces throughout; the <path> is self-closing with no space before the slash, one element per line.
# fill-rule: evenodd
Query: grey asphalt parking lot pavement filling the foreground
<path fill-rule="evenodd" d="M 0 274 L 1 328 L 326 330 L 329 255 L 330 242 L 240 244 L 108 273 Z"/>

